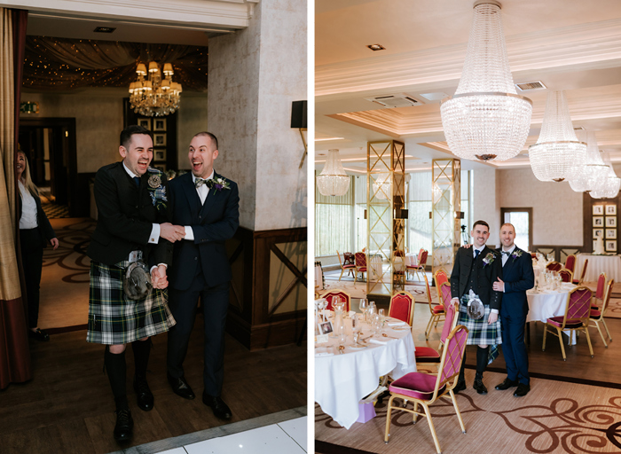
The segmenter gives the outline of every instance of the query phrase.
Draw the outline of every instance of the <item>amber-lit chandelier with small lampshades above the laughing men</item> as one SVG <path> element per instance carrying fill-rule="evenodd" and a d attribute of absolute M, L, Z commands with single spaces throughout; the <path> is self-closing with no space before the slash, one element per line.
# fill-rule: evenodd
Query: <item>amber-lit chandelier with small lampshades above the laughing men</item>
<path fill-rule="evenodd" d="M 144 63 L 138 63 L 138 80 L 130 83 L 130 105 L 137 114 L 147 117 L 163 117 L 179 108 L 181 84 L 172 82 L 172 65 L 164 64 L 164 79 L 161 79 L 160 65 L 149 62 L 149 75 L 146 76 Z"/>

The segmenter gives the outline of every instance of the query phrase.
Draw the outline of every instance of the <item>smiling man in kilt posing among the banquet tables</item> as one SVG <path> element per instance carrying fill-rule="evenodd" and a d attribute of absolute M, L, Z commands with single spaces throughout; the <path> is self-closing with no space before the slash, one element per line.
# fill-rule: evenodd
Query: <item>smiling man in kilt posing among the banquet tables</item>
<path fill-rule="evenodd" d="M 451 273 L 452 301 L 460 302 L 458 324 L 468 328 L 468 345 L 476 348 L 476 376 L 474 388 L 478 394 L 487 394 L 483 385 L 483 372 L 499 355 L 499 344 L 502 343 L 500 320 L 498 317 L 502 292 L 493 290 L 492 285 L 502 278 L 502 261 L 497 251 L 485 246 L 490 237 L 490 226 L 485 221 L 476 221 L 470 232 L 473 239 L 472 247 L 460 247 L 455 254 L 455 262 Z M 468 294 L 472 290 L 483 302 L 484 314 L 479 319 L 468 315 Z M 466 352 L 461 362 L 460 378 L 453 390 L 459 392 L 466 389 L 464 367 Z"/>

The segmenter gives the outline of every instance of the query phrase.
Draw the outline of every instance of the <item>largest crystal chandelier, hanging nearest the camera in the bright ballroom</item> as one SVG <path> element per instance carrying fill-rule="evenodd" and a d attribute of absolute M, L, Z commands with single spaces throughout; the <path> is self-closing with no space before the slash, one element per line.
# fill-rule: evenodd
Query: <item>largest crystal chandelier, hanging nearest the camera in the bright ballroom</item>
<path fill-rule="evenodd" d="M 515 91 L 499 2 L 475 3 L 460 84 L 440 112 L 449 148 L 460 158 L 508 160 L 522 150 L 532 101 Z"/>

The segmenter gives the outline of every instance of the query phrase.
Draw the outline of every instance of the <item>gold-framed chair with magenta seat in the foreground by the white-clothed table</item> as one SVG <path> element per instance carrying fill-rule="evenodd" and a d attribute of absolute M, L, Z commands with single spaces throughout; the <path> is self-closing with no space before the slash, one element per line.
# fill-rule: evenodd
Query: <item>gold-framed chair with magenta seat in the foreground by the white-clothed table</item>
<path fill-rule="evenodd" d="M 419 415 L 427 417 L 429 430 L 436 445 L 436 451 L 441 453 L 442 450 L 440 450 L 440 442 L 437 440 L 436 428 L 431 419 L 429 405 L 436 403 L 436 401 L 446 395 L 451 397 L 455 414 L 460 420 L 461 433 L 466 434 L 466 427 L 461 419 L 460 408 L 457 406 L 455 395 L 452 392 L 457 385 L 460 375 L 466 340 L 468 340 L 468 328 L 464 325 L 456 326 L 446 338 L 446 347 L 442 351 L 442 359 L 440 360 L 437 375 L 424 372 L 410 372 L 389 385 L 390 399 L 386 413 L 386 432 L 384 433 L 384 442 L 386 444 L 389 442 L 392 411 L 407 411 L 413 413 L 413 424 L 416 424 Z M 400 402 L 394 404 L 395 399 L 400 399 Z M 407 404 L 409 402 L 412 402 L 413 409 L 408 408 Z M 442 404 L 444 405 L 444 402 Z M 424 412 L 419 411 L 419 405 L 421 405 Z"/>

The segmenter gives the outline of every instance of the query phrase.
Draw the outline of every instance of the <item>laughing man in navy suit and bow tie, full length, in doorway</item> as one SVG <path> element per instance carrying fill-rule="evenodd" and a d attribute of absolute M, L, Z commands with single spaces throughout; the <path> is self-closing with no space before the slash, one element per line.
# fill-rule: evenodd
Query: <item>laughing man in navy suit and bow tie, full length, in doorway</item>
<path fill-rule="evenodd" d="M 169 332 L 167 369 L 173 391 L 193 399 L 183 363 L 200 297 L 205 323 L 202 401 L 217 418 L 231 419 L 231 409 L 220 396 L 232 278 L 224 241 L 240 225 L 240 195 L 237 184 L 214 171 L 218 154 L 216 136 L 198 133 L 188 152 L 192 173 L 177 176 L 169 184 L 173 219 L 185 226 L 185 238 L 177 241 L 169 270 L 169 307 L 177 325 Z"/>

